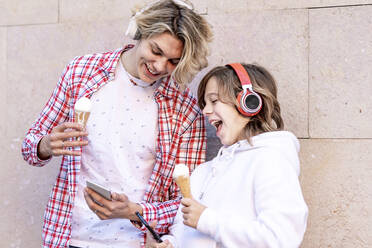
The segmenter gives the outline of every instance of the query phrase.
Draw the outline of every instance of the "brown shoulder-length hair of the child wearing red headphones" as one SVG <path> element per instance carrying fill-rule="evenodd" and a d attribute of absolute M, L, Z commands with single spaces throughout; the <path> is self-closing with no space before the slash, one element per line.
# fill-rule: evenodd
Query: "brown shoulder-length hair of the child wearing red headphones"
<path fill-rule="evenodd" d="M 245 126 L 247 139 L 249 140 L 250 137 L 260 133 L 282 130 L 284 128 L 284 122 L 280 115 L 277 87 L 273 76 L 259 65 L 242 65 L 248 72 L 254 92 L 259 94 L 262 99 L 260 112 L 255 116 L 246 117 L 249 118 L 249 122 Z M 227 66 L 217 66 L 203 77 L 198 88 L 199 107 L 201 109 L 205 107 L 205 89 L 209 79 L 212 77 L 217 81 L 219 100 L 237 107 L 239 103 L 236 97 L 243 88 L 234 70 Z"/>

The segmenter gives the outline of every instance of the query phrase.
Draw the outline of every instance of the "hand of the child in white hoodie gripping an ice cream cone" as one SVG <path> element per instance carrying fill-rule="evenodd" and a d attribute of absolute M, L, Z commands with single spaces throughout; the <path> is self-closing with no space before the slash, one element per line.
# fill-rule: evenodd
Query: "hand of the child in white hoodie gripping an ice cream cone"
<path fill-rule="evenodd" d="M 183 213 L 183 224 L 196 229 L 200 215 L 207 207 L 191 198 L 183 198 L 181 204 L 184 206 L 181 210 Z"/>

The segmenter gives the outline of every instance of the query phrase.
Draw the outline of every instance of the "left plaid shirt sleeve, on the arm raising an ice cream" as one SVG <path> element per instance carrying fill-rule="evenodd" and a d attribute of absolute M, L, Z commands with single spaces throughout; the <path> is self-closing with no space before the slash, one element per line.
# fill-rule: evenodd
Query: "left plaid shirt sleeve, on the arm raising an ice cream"
<path fill-rule="evenodd" d="M 33 166 L 44 166 L 50 161 L 50 159 L 39 159 L 37 156 L 38 144 L 56 125 L 68 119 L 70 97 L 68 78 L 71 74 L 70 68 L 70 64 L 65 67 L 52 96 L 49 98 L 39 118 L 28 130 L 22 143 L 23 158 Z"/>

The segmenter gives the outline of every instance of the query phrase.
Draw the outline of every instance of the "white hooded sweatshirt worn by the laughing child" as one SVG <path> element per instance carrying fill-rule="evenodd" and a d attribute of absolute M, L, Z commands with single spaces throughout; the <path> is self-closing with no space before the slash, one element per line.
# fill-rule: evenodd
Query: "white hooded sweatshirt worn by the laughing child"
<path fill-rule="evenodd" d="M 180 209 L 170 228 L 174 247 L 298 247 L 308 215 L 298 181 L 299 142 L 290 132 L 267 132 L 222 147 L 191 176 L 191 192 L 207 206 L 197 230 Z"/>

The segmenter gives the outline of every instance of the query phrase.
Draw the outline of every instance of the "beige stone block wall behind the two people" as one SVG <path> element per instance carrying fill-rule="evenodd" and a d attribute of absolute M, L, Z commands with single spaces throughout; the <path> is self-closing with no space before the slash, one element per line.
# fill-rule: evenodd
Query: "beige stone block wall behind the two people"
<path fill-rule="evenodd" d="M 193 2 L 213 25 L 211 66 L 257 62 L 278 81 L 287 129 L 302 146 L 302 247 L 372 247 L 372 1 Z M 124 44 L 136 3 L 0 0 L 0 247 L 40 246 L 59 167 L 27 165 L 24 133 L 66 63 Z"/>

